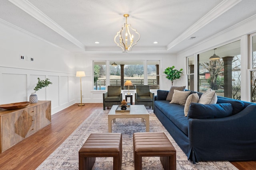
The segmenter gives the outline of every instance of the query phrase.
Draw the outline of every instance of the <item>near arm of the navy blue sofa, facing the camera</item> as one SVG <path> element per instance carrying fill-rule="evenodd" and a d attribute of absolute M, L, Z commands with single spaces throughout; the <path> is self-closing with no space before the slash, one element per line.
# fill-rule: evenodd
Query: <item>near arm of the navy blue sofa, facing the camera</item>
<path fill-rule="evenodd" d="M 229 117 L 188 119 L 193 162 L 200 160 L 256 160 L 256 104 Z"/>

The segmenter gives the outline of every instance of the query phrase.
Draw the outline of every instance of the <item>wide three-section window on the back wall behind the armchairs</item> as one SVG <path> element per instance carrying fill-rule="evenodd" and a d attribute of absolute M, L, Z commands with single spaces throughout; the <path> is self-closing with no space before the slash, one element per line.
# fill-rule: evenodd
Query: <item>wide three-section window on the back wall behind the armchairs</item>
<path fill-rule="evenodd" d="M 134 86 L 148 84 L 156 86 L 152 88 L 159 88 L 159 61 L 108 61 L 108 63 L 93 61 L 93 63 L 94 90 L 106 90 L 108 85 L 121 85 L 124 89 L 126 80 L 131 80 Z M 109 64 L 108 70 L 106 64 Z M 106 75 L 109 75 L 109 80 L 106 80 L 108 77 Z"/>

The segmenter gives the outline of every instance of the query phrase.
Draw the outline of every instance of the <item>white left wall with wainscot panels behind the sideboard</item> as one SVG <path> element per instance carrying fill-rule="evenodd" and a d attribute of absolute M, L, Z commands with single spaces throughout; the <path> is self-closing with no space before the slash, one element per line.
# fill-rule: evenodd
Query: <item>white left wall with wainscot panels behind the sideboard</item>
<path fill-rule="evenodd" d="M 38 77 L 53 83 L 36 92 L 52 101 L 52 114 L 76 102 L 74 54 L 1 22 L 0 37 L 0 104 L 29 101 Z"/>

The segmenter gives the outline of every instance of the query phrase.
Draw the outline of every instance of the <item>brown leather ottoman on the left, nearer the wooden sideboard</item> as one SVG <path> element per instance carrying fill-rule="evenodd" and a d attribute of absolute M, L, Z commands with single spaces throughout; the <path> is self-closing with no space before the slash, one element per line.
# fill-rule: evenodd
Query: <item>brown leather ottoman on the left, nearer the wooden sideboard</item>
<path fill-rule="evenodd" d="M 96 157 L 113 157 L 113 170 L 121 170 L 122 133 L 91 133 L 79 150 L 79 170 L 91 170 Z"/>

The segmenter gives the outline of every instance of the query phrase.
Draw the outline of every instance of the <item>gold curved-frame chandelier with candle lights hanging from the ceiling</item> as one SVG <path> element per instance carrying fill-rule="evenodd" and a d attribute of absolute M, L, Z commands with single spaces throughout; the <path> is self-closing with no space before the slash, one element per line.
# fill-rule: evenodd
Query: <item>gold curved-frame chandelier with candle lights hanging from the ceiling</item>
<path fill-rule="evenodd" d="M 126 18 L 126 22 L 121 30 L 116 33 L 114 41 L 118 47 L 123 49 L 123 53 L 126 53 L 131 51 L 132 47 L 140 40 L 140 34 L 136 29 L 132 28 L 131 24 L 127 24 L 127 17 L 129 17 L 129 14 L 124 14 L 124 17 Z M 137 40 L 134 41 L 134 39 Z"/>

